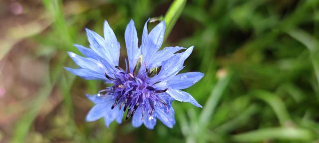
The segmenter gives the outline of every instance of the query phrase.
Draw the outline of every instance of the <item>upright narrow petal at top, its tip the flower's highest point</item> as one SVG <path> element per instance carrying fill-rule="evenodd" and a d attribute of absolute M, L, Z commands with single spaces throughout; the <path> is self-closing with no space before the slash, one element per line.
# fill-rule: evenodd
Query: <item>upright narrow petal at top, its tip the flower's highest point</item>
<path fill-rule="evenodd" d="M 125 44 L 128 53 L 128 60 L 131 73 L 133 73 L 137 61 L 141 56 L 141 50 L 138 47 L 138 42 L 139 39 L 134 25 L 134 21 L 131 20 L 125 30 Z"/>

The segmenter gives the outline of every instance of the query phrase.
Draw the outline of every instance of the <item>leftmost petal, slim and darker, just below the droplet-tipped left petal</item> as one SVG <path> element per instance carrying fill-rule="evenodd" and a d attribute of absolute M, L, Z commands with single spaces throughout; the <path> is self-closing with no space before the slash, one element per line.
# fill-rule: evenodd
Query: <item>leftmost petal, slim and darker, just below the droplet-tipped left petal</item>
<path fill-rule="evenodd" d="M 106 80 L 107 82 L 109 81 L 109 79 L 107 79 L 103 73 L 97 73 L 95 71 L 91 71 L 88 69 L 71 69 L 71 68 L 67 68 L 67 67 L 65 67 L 64 69 L 71 71 L 73 74 L 78 75 L 84 79 Z"/>

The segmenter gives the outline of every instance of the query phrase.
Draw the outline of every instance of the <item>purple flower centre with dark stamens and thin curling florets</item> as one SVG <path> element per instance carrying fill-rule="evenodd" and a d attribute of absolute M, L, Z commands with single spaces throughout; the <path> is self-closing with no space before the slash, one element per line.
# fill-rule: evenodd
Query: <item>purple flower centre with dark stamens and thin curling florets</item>
<path fill-rule="evenodd" d="M 154 87 L 150 86 L 148 82 L 148 75 L 146 72 L 141 73 L 137 76 L 132 73 L 124 71 L 120 67 L 116 67 L 118 71 L 114 73 L 114 78 L 105 74 L 105 76 L 110 79 L 114 85 L 107 87 L 99 92 L 98 95 L 105 92 L 104 96 L 112 96 L 115 99 L 112 109 L 117 105 L 123 111 L 127 112 L 126 119 L 133 117 L 138 107 L 142 108 L 142 114 L 147 111 L 150 115 L 150 120 L 153 119 L 153 113 L 155 111 L 155 106 L 164 106 L 167 109 L 166 102 L 164 102 L 158 93 L 165 92 L 164 90 L 156 90 Z M 160 103 L 160 104 L 159 104 Z M 144 116 L 142 116 L 143 119 Z"/>

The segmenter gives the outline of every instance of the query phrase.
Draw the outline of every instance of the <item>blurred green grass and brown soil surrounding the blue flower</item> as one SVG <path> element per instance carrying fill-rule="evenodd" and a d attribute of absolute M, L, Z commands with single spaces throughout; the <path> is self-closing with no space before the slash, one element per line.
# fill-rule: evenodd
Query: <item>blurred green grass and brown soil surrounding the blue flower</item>
<path fill-rule="evenodd" d="M 166 46 L 195 46 L 182 72 L 205 76 L 173 102 L 173 129 L 110 129 L 85 122 L 85 94 L 105 87 L 75 77 L 66 51 L 88 46 L 84 28 L 108 20 L 126 57 L 138 36 L 166 20 Z M 319 0 L 1 0 L 1 143 L 319 143 Z M 141 39 L 141 38 L 139 38 Z"/>

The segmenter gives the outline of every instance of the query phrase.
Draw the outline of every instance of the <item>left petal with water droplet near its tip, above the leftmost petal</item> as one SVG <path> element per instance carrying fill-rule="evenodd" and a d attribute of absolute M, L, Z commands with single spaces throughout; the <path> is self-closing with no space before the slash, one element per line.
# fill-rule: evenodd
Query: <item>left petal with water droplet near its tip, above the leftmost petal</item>
<path fill-rule="evenodd" d="M 72 60 L 75 62 L 75 64 L 79 65 L 83 69 L 89 69 L 91 71 L 95 71 L 98 73 L 106 73 L 106 68 L 104 65 L 95 59 L 91 58 L 84 58 L 79 55 L 76 55 L 72 52 L 68 52 L 69 56 L 72 58 Z"/>

